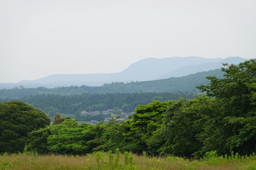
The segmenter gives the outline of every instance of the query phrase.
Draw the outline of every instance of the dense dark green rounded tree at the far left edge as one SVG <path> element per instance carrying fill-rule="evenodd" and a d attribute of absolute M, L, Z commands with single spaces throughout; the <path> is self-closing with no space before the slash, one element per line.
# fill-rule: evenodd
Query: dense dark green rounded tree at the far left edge
<path fill-rule="evenodd" d="M 0 103 L 0 152 L 22 152 L 28 132 L 46 125 L 50 125 L 46 114 L 26 103 Z"/>

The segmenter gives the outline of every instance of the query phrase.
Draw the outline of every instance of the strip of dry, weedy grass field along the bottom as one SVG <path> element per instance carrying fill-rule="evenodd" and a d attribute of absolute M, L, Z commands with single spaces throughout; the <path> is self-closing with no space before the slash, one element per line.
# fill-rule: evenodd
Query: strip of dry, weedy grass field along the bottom
<path fill-rule="evenodd" d="M 208 156 L 203 160 L 183 158 L 138 156 L 128 152 L 112 154 L 96 152 L 86 156 L 37 155 L 36 153 L 2 154 L 0 169 L 31 170 L 98 170 L 98 169 L 139 169 L 139 170 L 255 170 L 256 156 Z"/>

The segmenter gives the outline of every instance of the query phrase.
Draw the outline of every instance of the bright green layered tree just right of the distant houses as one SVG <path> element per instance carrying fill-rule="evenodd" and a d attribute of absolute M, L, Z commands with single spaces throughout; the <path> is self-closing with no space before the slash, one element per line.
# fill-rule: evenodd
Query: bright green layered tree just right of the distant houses
<path fill-rule="evenodd" d="M 121 125 L 124 129 L 124 138 L 121 146 L 123 150 L 142 153 L 143 150 L 152 150 L 148 144 L 152 135 L 161 128 L 163 117 L 168 103 L 173 101 L 153 101 L 147 105 L 139 105 L 132 115 L 132 120 Z M 156 148 L 153 149 L 155 154 Z"/>

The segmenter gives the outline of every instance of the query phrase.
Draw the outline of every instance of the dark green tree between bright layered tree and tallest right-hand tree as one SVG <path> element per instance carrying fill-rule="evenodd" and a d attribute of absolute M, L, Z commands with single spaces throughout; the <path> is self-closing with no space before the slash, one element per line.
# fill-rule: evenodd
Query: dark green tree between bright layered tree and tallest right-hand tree
<path fill-rule="evenodd" d="M 166 143 L 161 152 L 190 157 L 200 151 L 202 142 L 197 135 L 203 132 L 204 114 L 212 113 L 211 103 L 212 100 L 203 96 L 191 100 L 179 99 L 169 105 L 162 128 Z"/>

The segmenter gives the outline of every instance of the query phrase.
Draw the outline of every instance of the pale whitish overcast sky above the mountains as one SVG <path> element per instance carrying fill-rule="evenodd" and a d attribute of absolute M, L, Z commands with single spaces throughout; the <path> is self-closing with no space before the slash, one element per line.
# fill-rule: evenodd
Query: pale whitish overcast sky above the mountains
<path fill-rule="evenodd" d="M 154 57 L 256 57 L 256 0 L 0 0 L 0 83 Z"/>

